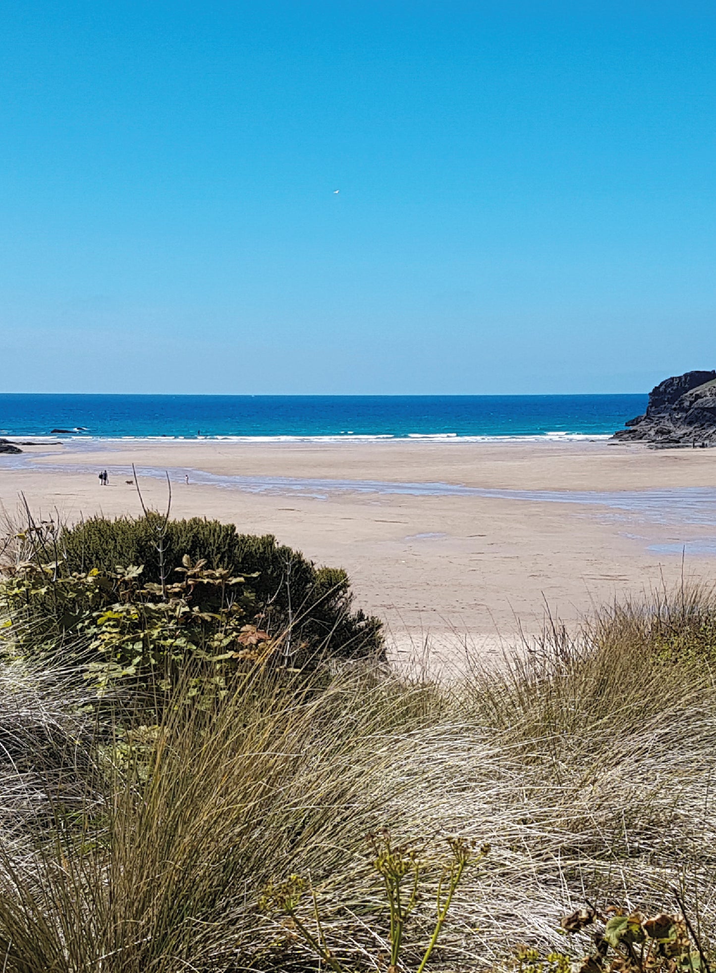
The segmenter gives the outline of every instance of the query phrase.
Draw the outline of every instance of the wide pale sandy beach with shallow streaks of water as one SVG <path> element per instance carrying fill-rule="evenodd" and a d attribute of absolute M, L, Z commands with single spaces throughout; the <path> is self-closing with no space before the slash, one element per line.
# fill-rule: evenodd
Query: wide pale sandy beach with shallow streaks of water
<path fill-rule="evenodd" d="M 716 554 L 716 455 L 598 442 L 70 441 L 0 457 L 0 500 L 34 511 L 136 514 L 149 504 L 270 532 L 345 567 L 402 647 L 484 651 L 568 625 L 595 604 L 686 575 Z M 110 485 L 97 472 L 106 468 Z M 189 484 L 186 482 L 189 477 Z"/>

